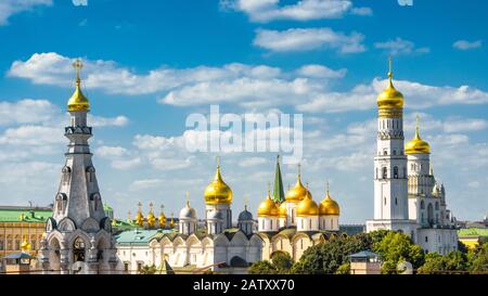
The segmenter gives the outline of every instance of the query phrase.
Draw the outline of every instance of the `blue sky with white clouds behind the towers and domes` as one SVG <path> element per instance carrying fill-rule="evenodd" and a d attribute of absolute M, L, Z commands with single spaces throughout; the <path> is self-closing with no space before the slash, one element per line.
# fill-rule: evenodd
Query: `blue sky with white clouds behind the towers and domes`
<path fill-rule="evenodd" d="M 81 1 L 85 2 L 85 1 Z M 316 201 L 331 180 L 342 222 L 372 217 L 375 95 L 394 55 L 414 117 L 459 219 L 488 210 L 488 3 L 396 0 L 7 0 L 0 4 L 2 204 L 52 202 L 63 165 L 69 64 L 82 57 L 103 198 L 116 216 L 137 203 L 178 213 L 184 192 L 203 214 L 211 153 L 181 150 L 194 112 L 303 113 L 304 179 Z M 264 87 L 266 86 L 266 87 Z M 234 191 L 256 208 L 275 155 L 222 156 Z M 296 168 L 284 166 L 285 188 Z"/>

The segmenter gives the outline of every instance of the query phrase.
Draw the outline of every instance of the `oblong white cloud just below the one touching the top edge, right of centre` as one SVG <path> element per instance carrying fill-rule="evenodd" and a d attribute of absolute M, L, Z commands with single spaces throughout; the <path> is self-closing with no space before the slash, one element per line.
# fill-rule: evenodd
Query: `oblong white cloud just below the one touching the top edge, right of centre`
<path fill-rule="evenodd" d="M 254 44 L 274 52 L 299 52 L 333 49 L 341 53 L 365 51 L 364 36 L 359 33 L 345 35 L 331 28 L 291 28 L 287 30 L 258 29 Z"/>

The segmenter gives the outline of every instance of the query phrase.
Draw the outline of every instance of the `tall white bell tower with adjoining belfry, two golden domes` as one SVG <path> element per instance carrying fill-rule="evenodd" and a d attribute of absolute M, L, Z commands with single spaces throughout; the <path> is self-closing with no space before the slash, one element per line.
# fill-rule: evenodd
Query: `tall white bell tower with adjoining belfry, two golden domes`
<path fill-rule="evenodd" d="M 429 144 L 419 128 L 404 144 L 404 98 L 393 85 L 377 96 L 377 149 L 374 157 L 374 219 L 367 231 L 397 230 L 426 252 L 445 255 L 458 249 L 455 218 L 446 204 L 446 190 L 434 177 Z"/>

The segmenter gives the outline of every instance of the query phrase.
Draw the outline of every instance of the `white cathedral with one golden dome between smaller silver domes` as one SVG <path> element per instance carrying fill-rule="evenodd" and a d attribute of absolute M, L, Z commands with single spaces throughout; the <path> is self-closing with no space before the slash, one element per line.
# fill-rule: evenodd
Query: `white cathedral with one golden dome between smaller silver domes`
<path fill-rule="evenodd" d="M 204 198 L 205 226 L 198 227 L 196 210 L 187 195 L 178 217 L 178 231 L 149 241 L 151 263 L 156 267 L 167 263 L 179 272 L 246 273 L 251 263 L 261 259 L 262 240 L 254 231 L 253 214 L 247 206 L 240 213 L 236 228 L 232 226 L 232 190 L 222 179 L 219 157 Z M 124 256 L 120 260 L 125 260 Z"/>

